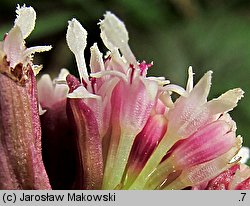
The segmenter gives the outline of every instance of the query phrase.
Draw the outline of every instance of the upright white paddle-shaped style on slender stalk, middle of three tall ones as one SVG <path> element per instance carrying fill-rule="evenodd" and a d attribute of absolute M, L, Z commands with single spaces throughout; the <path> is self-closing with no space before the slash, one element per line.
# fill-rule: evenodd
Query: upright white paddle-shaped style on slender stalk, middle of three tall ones
<path fill-rule="evenodd" d="M 66 34 L 67 44 L 75 55 L 81 81 L 84 79 L 85 82 L 89 82 L 88 70 L 84 58 L 84 50 L 87 45 L 87 31 L 76 19 L 72 19 L 68 24 Z"/>

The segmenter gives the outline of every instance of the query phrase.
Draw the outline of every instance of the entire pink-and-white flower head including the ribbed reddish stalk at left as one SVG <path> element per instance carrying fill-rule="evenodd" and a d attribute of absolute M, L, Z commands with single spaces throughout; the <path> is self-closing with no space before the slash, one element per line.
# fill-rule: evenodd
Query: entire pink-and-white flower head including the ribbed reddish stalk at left
<path fill-rule="evenodd" d="M 17 14 L 0 43 L 0 188 L 249 189 L 228 113 L 241 89 L 208 101 L 211 71 L 194 85 L 190 67 L 186 88 L 147 76 L 153 64 L 136 59 L 124 23 L 107 12 L 99 23 L 107 54 L 94 43 L 86 65 L 87 31 L 72 19 L 66 40 L 79 79 L 65 69 L 43 75 L 37 95 L 33 53 L 51 47 L 26 48 L 36 14 L 25 6 Z"/>

